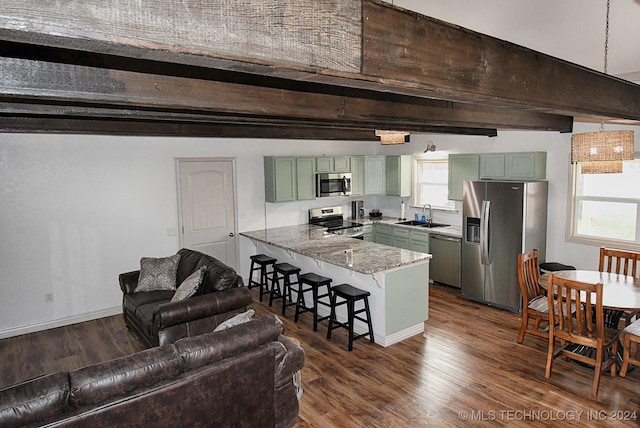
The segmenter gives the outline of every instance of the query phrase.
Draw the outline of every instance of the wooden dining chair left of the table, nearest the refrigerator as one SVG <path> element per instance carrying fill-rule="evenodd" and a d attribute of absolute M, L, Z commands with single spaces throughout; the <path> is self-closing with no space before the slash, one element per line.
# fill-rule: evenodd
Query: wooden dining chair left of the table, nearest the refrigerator
<path fill-rule="evenodd" d="M 538 284 L 540 268 L 538 266 L 538 250 L 533 249 L 524 254 L 518 254 L 518 282 L 522 294 L 522 324 L 518 333 L 518 343 L 522 343 L 526 333 L 548 338 L 546 330 L 549 324 L 549 306 L 545 291 Z M 533 326 L 529 327 L 529 323 Z M 543 330 L 541 330 L 541 324 Z"/>

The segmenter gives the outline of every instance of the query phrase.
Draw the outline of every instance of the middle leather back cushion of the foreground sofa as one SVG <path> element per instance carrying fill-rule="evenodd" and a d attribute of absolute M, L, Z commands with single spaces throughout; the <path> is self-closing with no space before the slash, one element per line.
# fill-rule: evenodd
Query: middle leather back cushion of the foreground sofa
<path fill-rule="evenodd" d="M 74 407 L 101 403 L 182 373 L 182 359 L 173 345 L 146 349 L 69 373 Z"/>

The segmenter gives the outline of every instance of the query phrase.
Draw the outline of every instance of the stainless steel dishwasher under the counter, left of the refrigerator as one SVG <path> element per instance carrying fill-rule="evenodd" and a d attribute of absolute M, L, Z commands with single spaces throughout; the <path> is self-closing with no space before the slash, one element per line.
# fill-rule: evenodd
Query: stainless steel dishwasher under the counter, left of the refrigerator
<path fill-rule="evenodd" d="M 461 238 L 429 234 L 429 277 L 434 282 L 460 288 Z"/>

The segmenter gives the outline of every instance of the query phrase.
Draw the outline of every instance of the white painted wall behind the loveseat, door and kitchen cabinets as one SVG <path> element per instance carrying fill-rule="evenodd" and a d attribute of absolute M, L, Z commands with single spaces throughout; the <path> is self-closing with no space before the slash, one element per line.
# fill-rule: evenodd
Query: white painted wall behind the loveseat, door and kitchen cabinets
<path fill-rule="evenodd" d="M 628 127 L 627 127 L 628 128 Z M 576 131 L 597 125 L 576 125 Z M 636 130 L 636 147 L 640 128 Z M 447 152 L 547 151 L 547 256 L 597 267 L 597 247 L 565 242 L 570 134 L 499 132 L 498 137 L 413 135 L 376 142 L 0 134 L 0 337 L 120 311 L 118 274 L 140 257 L 178 250 L 175 158 L 236 159 L 238 230 L 301 224 L 312 207 L 348 200 L 264 202 L 266 155 L 417 154 L 427 141 Z M 354 198 L 355 199 L 355 198 Z M 358 198 L 360 199 L 360 198 Z M 364 197 L 368 209 L 398 216 L 397 197 Z M 407 200 L 408 201 L 408 200 Z M 407 208 L 407 216 L 413 211 Z M 436 221 L 460 224 L 459 214 Z M 457 222 L 457 223 L 456 223 Z M 239 239 L 246 277 L 252 244 Z M 45 303 L 45 293 L 54 294 Z"/>

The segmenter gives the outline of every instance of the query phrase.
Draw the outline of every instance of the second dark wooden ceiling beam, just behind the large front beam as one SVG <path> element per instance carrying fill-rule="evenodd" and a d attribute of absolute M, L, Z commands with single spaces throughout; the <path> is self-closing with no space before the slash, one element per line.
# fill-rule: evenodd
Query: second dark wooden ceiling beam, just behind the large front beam
<path fill-rule="evenodd" d="M 322 93 L 314 92 L 317 85 L 297 87 L 283 81 L 278 83 L 282 87 L 274 82 L 272 87 L 256 86 L 236 75 L 242 83 L 208 80 L 224 76 L 175 64 L 130 64 L 129 68 L 142 72 L 125 70 L 120 58 L 100 57 L 106 63 L 104 68 L 46 59 L 0 57 L 0 101 L 5 114 L 269 122 L 412 132 L 498 127 L 567 132 L 572 127 L 570 117 L 526 110 L 383 96 L 339 87 L 326 91 L 333 93 Z M 159 74 L 158 69 L 165 74 Z"/>

